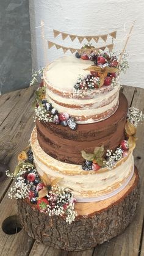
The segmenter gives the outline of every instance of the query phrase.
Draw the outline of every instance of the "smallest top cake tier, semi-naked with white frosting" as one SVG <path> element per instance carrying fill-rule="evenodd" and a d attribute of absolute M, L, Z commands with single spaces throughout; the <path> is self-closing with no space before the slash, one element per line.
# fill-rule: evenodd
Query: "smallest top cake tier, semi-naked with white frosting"
<path fill-rule="evenodd" d="M 90 60 L 73 55 L 54 60 L 43 72 L 46 98 L 59 112 L 67 112 L 77 123 L 95 123 L 110 117 L 118 108 L 119 88 L 103 86 L 93 90 L 74 90 L 79 76 L 90 75 Z M 90 77 L 91 78 L 91 77 Z"/>

